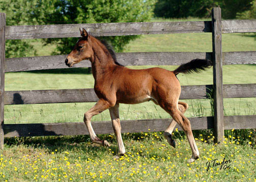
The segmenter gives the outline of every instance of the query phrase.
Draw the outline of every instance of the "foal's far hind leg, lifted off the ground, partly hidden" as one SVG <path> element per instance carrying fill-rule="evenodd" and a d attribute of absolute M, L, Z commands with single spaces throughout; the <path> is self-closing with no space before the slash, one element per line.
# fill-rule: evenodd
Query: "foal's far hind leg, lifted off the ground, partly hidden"
<path fill-rule="evenodd" d="M 178 103 L 178 108 L 182 112 L 182 114 L 184 114 L 186 112 L 187 108 L 188 108 L 188 104 L 183 103 L 183 102 L 179 102 Z M 173 119 L 171 121 L 170 125 L 168 126 L 168 128 L 165 130 L 165 133 L 164 133 L 165 139 L 174 148 L 176 147 L 176 144 L 175 144 L 175 140 L 172 139 L 172 132 L 173 132 L 173 129 L 176 126 L 176 124 L 177 124 L 177 122 Z"/>

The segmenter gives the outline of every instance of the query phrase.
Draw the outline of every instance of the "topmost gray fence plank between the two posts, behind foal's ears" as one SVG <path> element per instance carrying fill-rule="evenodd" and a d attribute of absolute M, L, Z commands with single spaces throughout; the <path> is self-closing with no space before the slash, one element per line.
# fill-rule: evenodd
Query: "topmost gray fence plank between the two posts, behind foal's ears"
<path fill-rule="evenodd" d="M 6 39 L 80 37 L 79 28 L 93 36 L 211 32 L 210 21 L 133 22 L 7 26 Z"/>

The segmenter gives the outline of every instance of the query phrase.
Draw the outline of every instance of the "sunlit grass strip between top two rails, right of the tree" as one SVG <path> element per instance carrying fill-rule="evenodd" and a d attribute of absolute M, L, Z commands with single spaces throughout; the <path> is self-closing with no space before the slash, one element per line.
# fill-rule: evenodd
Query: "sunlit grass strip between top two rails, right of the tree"
<path fill-rule="evenodd" d="M 222 34 L 222 51 L 255 51 L 252 33 Z M 211 33 L 141 35 L 125 52 L 212 52 Z"/>

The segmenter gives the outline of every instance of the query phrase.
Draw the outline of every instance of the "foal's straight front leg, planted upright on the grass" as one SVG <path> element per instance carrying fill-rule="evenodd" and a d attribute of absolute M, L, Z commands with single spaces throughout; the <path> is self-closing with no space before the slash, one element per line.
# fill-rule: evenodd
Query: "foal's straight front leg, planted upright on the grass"
<path fill-rule="evenodd" d="M 123 154 L 125 154 L 125 149 L 124 149 L 122 136 L 121 136 L 121 124 L 120 124 L 120 119 L 119 119 L 119 104 L 116 104 L 114 107 L 109 108 L 109 113 L 110 113 L 111 120 L 112 120 L 112 126 L 114 129 L 116 138 L 117 138 L 119 154 L 123 155 Z"/>

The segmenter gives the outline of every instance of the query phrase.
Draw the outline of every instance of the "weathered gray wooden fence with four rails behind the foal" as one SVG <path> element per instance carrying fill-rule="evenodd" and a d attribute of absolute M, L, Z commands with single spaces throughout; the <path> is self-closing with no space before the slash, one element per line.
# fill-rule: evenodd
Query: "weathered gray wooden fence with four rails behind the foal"
<path fill-rule="evenodd" d="M 79 28 L 85 28 L 93 36 L 212 32 L 212 53 L 117 53 L 117 60 L 127 66 L 180 65 L 195 58 L 211 59 L 213 85 L 182 86 L 180 99 L 208 99 L 209 89 L 213 89 L 214 93 L 214 117 L 189 118 L 192 129 L 214 128 L 215 142 L 219 142 L 223 138 L 224 129 L 256 128 L 256 115 L 223 116 L 223 98 L 256 97 L 256 84 L 222 84 L 222 65 L 256 64 L 256 52 L 221 51 L 222 33 L 256 32 L 256 20 L 221 21 L 220 8 L 214 8 L 212 21 L 6 26 L 5 14 L 0 13 L 1 148 L 4 147 L 6 137 L 88 134 L 83 122 L 4 124 L 4 105 L 98 101 L 92 88 L 4 91 L 5 72 L 67 68 L 64 63 L 67 55 L 11 58 L 5 61 L 5 39 L 79 37 Z M 90 67 L 90 63 L 84 61 L 74 67 Z M 21 102 L 20 98 L 26 100 Z M 126 120 L 121 122 L 121 126 L 122 132 L 148 131 L 148 128 L 163 131 L 170 121 L 171 119 Z M 113 132 L 111 121 L 92 122 L 92 126 L 96 133 Z"/>

